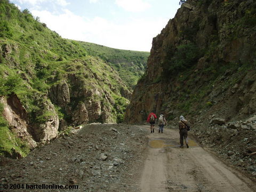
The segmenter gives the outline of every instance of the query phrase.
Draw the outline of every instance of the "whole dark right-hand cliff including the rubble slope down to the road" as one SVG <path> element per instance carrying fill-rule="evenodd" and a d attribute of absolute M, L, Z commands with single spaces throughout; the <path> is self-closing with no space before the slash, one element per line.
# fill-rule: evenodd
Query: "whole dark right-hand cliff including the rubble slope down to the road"
<path fill-rule="evenodd" d="M 188 119 L 199 141 L 255 176 L 255 1 L 187 0 L 153 39 L 125 121 L 164 111 Z"/>

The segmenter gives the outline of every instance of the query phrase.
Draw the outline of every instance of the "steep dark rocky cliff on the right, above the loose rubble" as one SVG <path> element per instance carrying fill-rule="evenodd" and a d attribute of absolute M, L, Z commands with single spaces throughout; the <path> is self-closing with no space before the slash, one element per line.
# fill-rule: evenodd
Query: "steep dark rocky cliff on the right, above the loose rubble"
<path fill-rule="evenodd" d="M 133 92 L 126 121 L 141 122 L 151 110 L 163 110 L 172 119 L 213 108 L 220 94 L 222 101 L 237 106 L 228 108 L 227 116 L 252 114 L 247 89 L 255 80 L 250 73 L 255 66 L 254 7 L 254 1 L 183 4 L 153 39 L 148 69 Z"/>

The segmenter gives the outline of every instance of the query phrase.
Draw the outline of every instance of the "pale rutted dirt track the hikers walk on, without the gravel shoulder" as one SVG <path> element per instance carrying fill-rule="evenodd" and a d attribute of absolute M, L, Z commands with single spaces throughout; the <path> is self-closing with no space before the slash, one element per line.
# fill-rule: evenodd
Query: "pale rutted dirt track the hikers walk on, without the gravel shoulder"
<path fill-rule="evenodd" d="M 189 138 L 189 148 L 179 148 L 178 130 L 155 131 L 148 138 L 141 191 L 256 191 L 255 183 L 194 140 Z"/>

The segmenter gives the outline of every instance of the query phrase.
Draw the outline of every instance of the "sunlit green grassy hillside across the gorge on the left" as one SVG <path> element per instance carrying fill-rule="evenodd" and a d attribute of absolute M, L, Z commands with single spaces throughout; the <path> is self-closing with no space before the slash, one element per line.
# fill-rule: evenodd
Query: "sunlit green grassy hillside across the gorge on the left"
<path fill-rule="evenodd" d="M 148 53 L 63 39 L 7 0 L 0 1 L 0 21 L 0 98 L 16 94 L 31 129 L 41 127 L 55 113 L 68 125 L 77 125 L 74 116 L 79 117 L 77 107 L 83 105 L 88 123 L 123 121 L 131 86 L 143 73 Z M 68 103 L 49 96 L 63 82 L 70 91 Z M 51 103 L 54 109 L 49 111 Z M 11 154 L 14 148 L 25 156 L 26 142 L 8 129 L 2 111 L 1 106 L 0 155 Z"/>

